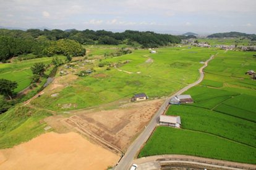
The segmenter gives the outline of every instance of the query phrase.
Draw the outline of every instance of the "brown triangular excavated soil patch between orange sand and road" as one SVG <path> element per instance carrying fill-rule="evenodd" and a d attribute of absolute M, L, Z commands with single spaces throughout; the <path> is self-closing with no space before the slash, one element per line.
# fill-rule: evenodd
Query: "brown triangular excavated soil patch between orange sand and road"
<path fill-rule="evenodd" d="M 91 137 L 98 137 L 108 142 L 109 145 L 125 150 L 132 142 L 133 137 L 147 126 L 162 103 L 163 100 L 151 100 L 127 103 L 115 110 L 102 110 L 93 113 L 80 111 L 79 114 L 65 119 L 65 122 Z"/>

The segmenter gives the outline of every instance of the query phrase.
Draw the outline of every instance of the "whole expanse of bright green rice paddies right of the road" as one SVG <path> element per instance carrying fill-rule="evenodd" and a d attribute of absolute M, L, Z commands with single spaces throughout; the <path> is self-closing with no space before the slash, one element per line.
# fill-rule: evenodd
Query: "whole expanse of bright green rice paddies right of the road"
<path fill-rule="evenodd" d="M 245 75 L 255 70 L 253 54 L 220 51 L 205 68 L 202 83 L 184 92 L 194 103 L 166 111 L 181 116 L 182 129 L 157 127 L 139 157 L 185 154 L 255 164 L 256 81 Z"/>

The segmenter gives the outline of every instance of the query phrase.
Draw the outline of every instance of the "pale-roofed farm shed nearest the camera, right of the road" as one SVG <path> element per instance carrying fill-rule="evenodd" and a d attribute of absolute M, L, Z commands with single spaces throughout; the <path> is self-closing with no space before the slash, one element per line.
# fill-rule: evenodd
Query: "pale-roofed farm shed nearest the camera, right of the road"
<path fill-rule="evenodd" d="M 160 125 L 179 128 L 179 127 L 181 127 L 181 117 L 180 116 L 161 115 L 160 116 Z"/>

